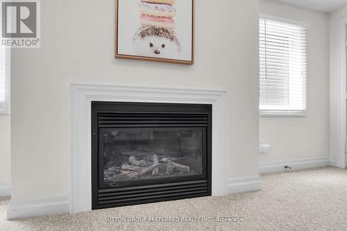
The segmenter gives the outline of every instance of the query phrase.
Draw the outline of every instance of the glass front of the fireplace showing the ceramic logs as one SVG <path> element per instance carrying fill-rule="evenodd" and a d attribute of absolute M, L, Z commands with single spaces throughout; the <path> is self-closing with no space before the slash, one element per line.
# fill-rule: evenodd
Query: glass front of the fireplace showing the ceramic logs
<path fill-rule="evenodd" d="M 99 187 L 205 177 L 206 129 L 101 128 Z"/>

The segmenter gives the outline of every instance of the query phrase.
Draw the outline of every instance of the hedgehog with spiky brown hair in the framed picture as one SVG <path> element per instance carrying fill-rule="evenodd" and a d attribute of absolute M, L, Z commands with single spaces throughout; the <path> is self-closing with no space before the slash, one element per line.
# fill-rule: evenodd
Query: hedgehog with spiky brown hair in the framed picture
<path fill-rule="evenodd" d="M 177 57 L 180 42 L 174 30 L 159 26 L 142 26 L 135 34 L 133 45 L 141 56 L 155 58 Z"/>

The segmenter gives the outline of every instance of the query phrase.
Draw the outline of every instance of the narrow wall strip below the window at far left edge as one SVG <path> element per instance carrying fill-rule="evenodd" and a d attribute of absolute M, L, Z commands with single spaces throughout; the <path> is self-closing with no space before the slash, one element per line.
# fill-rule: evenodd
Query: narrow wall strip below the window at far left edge
<path fill-rule="evenodd" d="M 0 194 L 11 182 L 10 116 L 0 114 Z"/>

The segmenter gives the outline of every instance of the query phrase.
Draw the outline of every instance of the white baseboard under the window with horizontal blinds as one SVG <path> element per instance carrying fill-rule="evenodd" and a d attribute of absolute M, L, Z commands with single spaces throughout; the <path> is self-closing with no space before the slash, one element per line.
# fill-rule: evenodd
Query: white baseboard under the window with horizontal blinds
<path fill-rule="evenodd" d="M 329 157 L 307 158 L 298 160 L 285 160 L 276 162 L 261 162 L 260 173 L 273 173 L 277 171 L 285 171 L 285 165 L 291 167 L 291 170 L 309 169 L 319 166 L 330 166 Z"/>

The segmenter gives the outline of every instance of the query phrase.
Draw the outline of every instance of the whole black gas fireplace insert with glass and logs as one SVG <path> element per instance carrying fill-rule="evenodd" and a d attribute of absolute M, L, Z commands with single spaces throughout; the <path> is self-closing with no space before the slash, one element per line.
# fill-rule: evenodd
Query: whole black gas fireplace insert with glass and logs
<path fill-rule="evenodd" d="M 212 105 L 92 101 L 92 209 L 211 195 Z"/>

